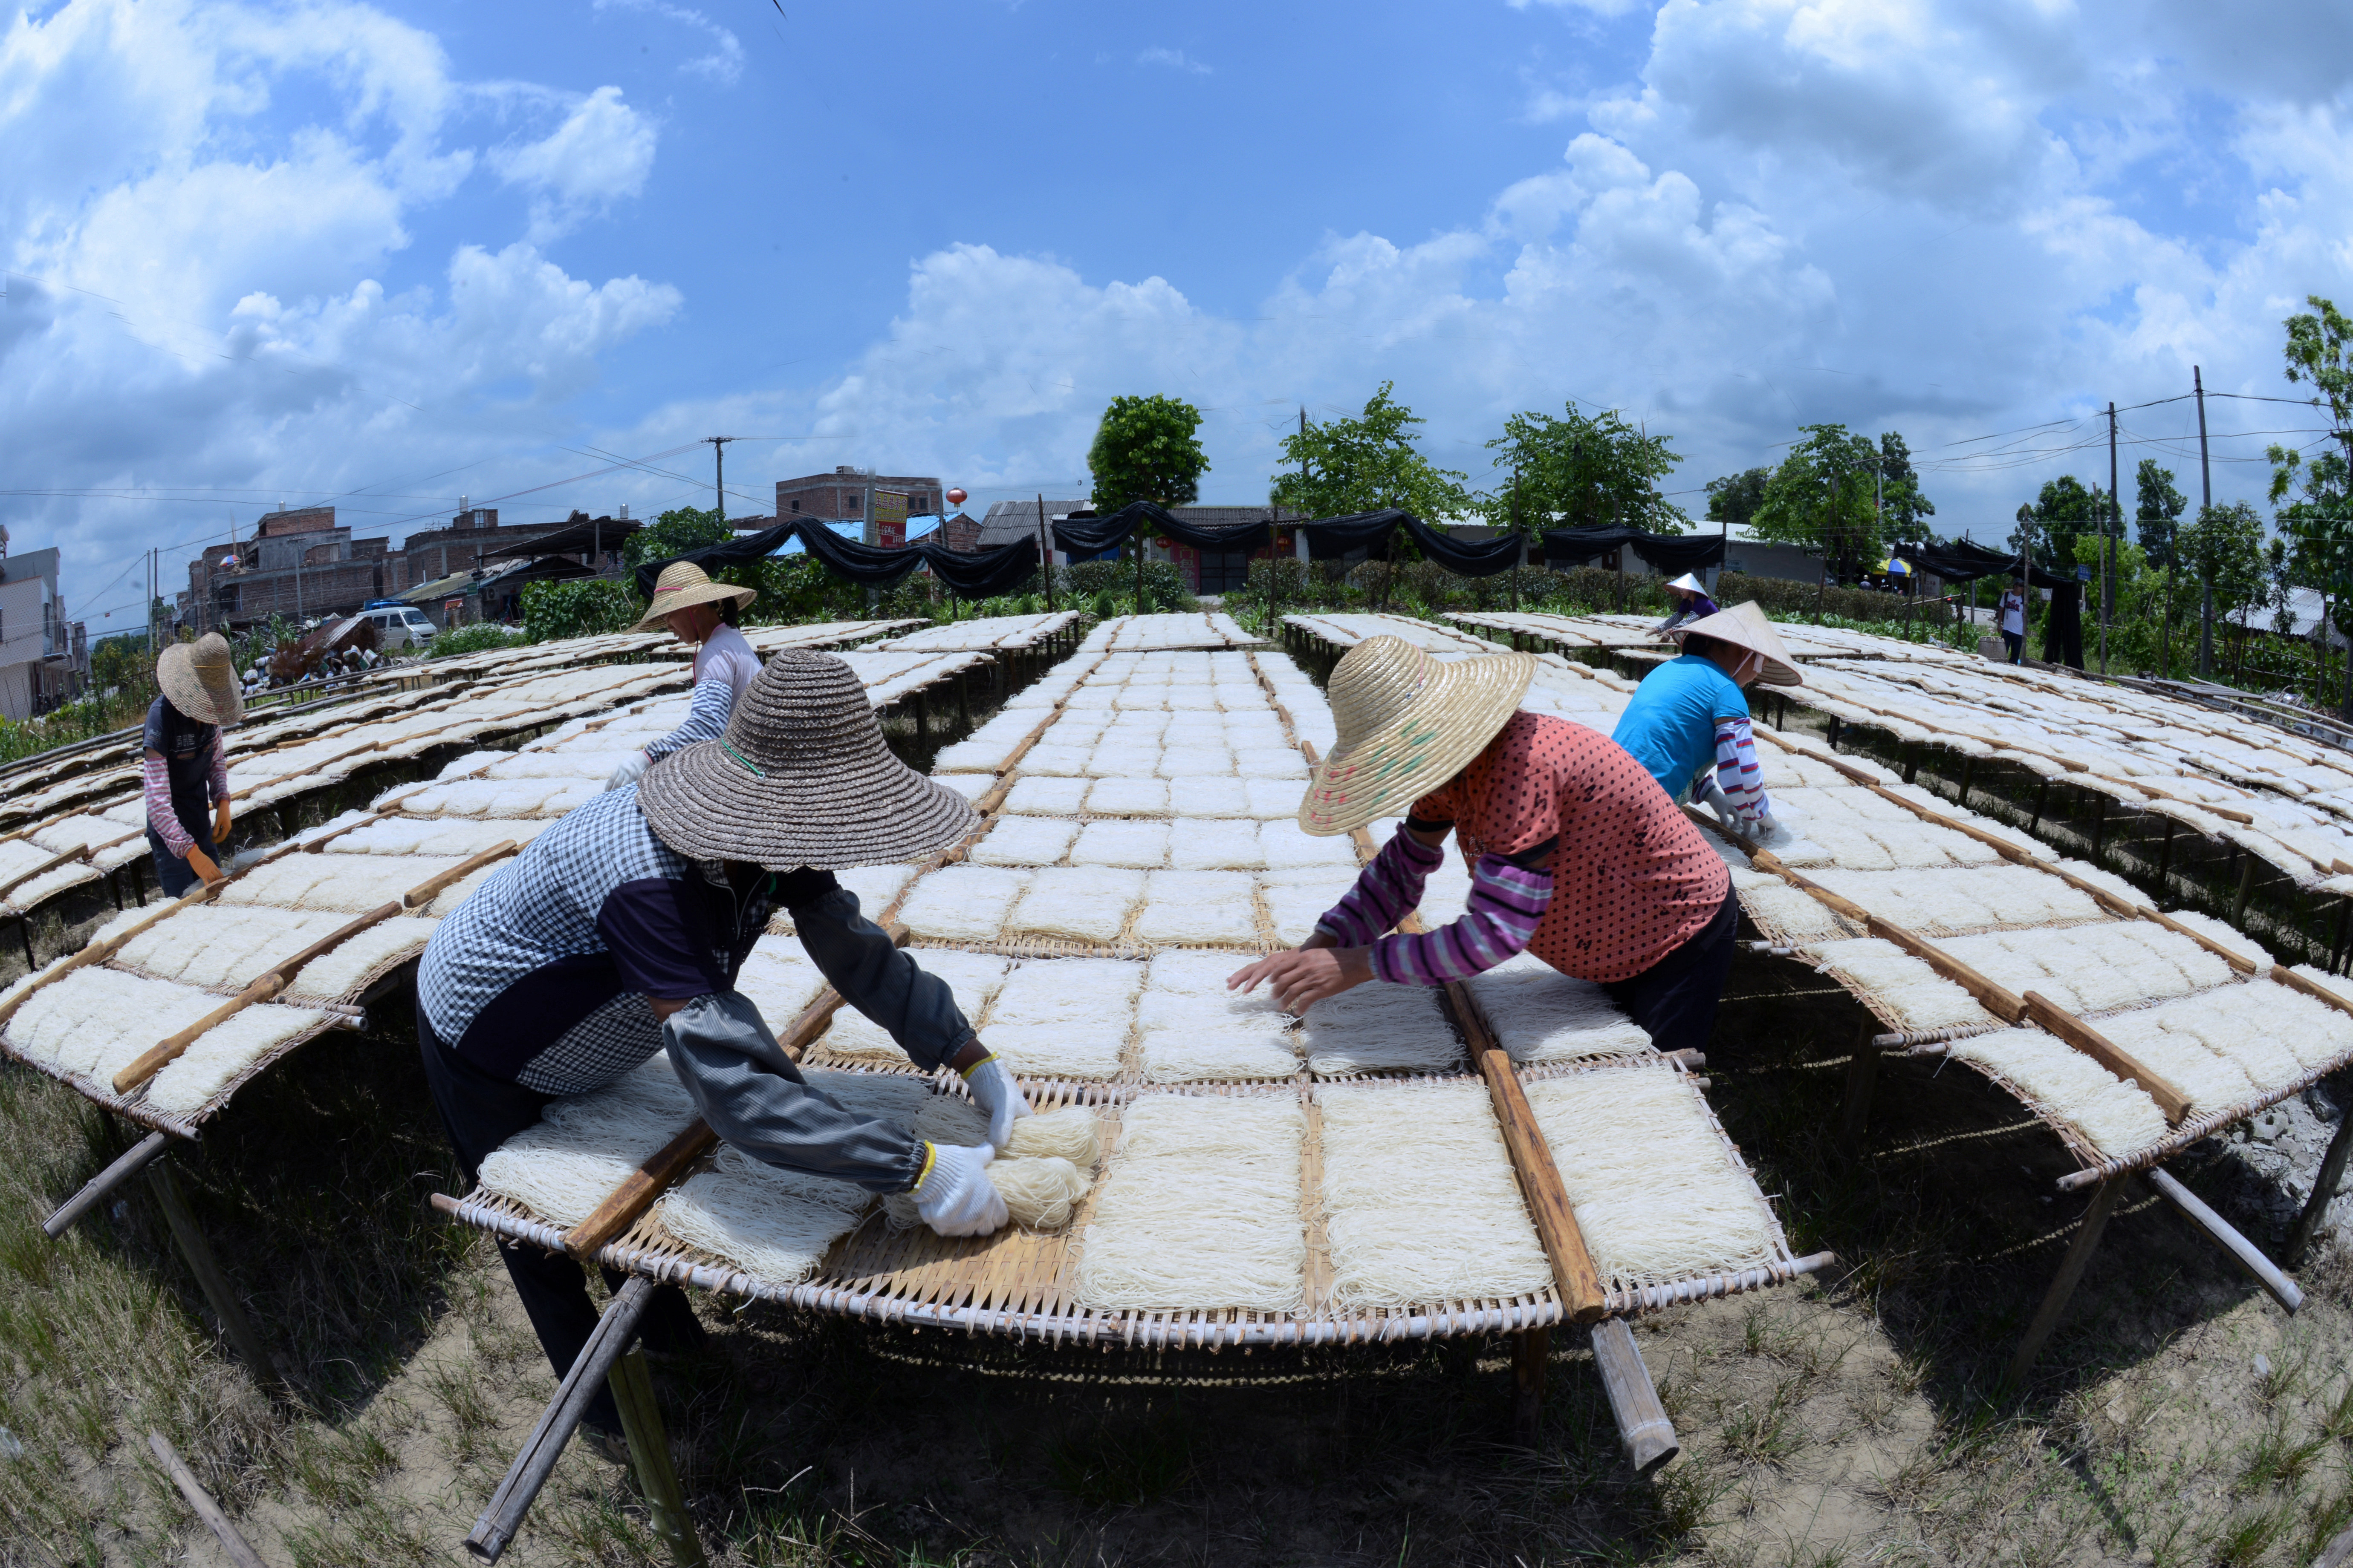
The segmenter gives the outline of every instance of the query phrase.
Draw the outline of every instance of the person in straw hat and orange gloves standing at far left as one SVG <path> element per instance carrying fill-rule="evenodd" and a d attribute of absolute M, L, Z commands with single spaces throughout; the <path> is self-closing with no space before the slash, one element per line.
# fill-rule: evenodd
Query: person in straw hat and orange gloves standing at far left
<path fill-rule="evenodd" d="M 162 696 L 148 705 L 141 741 L 148 849 L 155 851 L 155 882 L 167 898 L 179 898 L 198 877 L 221 879 L 228 846 L 221 729 L 245 717 L 245 691 L 219 632 L 167 646 L 155 661 L 155 684 Z"/>

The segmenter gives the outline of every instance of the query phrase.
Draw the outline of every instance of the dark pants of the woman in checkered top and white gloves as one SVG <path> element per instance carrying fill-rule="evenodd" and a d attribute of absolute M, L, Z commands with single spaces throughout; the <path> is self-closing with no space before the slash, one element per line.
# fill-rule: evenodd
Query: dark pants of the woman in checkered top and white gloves
<path fill-rule="evenodd" d="M 539 1110 L 555 1095 L 494 1077 L 461 1058 L 433 1034 L 424 1006 L 416 1009 L 416 1048 L 426 1058 L 426 1084 L 440 1107 L 442 1131 L 449 1133 L 449 1147 L 456 1150 L 466 1185 L 473 1187 L 489 1152 L 539 1121 Z M 522 1312 L 532 1319 L 541 1349 L 548 1352 L 548 1366 L 562 1378 L 572 1371 L 581 1347 L 588 1345 L 598 1316 L 588 1302 L 588 1279 L 581 1274 L 581 1265 L 562 1253 L 544 1253 L 504 1237 L 499 1253 L 506 1258 L 508 1279 L 515 1281 L 515 1295 L 522 1298 Z M 619 1291 L 621 1284 L 619 1269 L 605 1269 L 607 1288 Z M 638 1319 L 638 1338 L 645 1340 L 647 1349 L 694 1349 L 704 1342 L 704 1326 L 694 1321 L 694 1307 L 687 1305 L 678 1286 L 661 1286 L 645 1316 Z M 598 1389 L 588 1406 L 588 1425 L 621 1432 L 621 1410 L 612 1403 L 612 1389 Z"/>

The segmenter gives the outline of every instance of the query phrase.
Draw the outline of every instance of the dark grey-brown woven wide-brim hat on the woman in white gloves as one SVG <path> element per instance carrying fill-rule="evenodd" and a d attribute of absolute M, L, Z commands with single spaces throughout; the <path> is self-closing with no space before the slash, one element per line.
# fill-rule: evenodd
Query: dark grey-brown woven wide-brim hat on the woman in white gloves
<path fill-rule="evenodd" d="M 918 860 L 981 825 L 962 795 L 892 755 L 849 665 L 800 649 L 767 661 L 722 738 L 647 769 L 638 809 L 692 860 L 776 872 Z"/>

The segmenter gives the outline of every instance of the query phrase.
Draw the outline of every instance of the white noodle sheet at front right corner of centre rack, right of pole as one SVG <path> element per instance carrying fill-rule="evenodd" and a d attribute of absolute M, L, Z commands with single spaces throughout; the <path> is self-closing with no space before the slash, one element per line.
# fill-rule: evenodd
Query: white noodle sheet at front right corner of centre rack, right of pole
<path fill-rule="evenodd" d="M 1527 1086 L 1602 1279 L 1654 1284 L 1772 1262 L 1755 1178 L 1678 1072 L 1593 1070 Z"/>

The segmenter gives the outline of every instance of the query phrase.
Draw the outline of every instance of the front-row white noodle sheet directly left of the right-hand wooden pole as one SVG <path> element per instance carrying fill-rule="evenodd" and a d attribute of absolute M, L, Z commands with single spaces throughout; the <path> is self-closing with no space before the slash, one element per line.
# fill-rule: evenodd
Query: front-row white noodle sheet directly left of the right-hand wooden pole
<path fill-rule="evenodd" d="M 1337 1084 L 1315 1103 L 1341 1305 L 1508 1300 L 1553 1281 L 1482 1084 Z"/>

